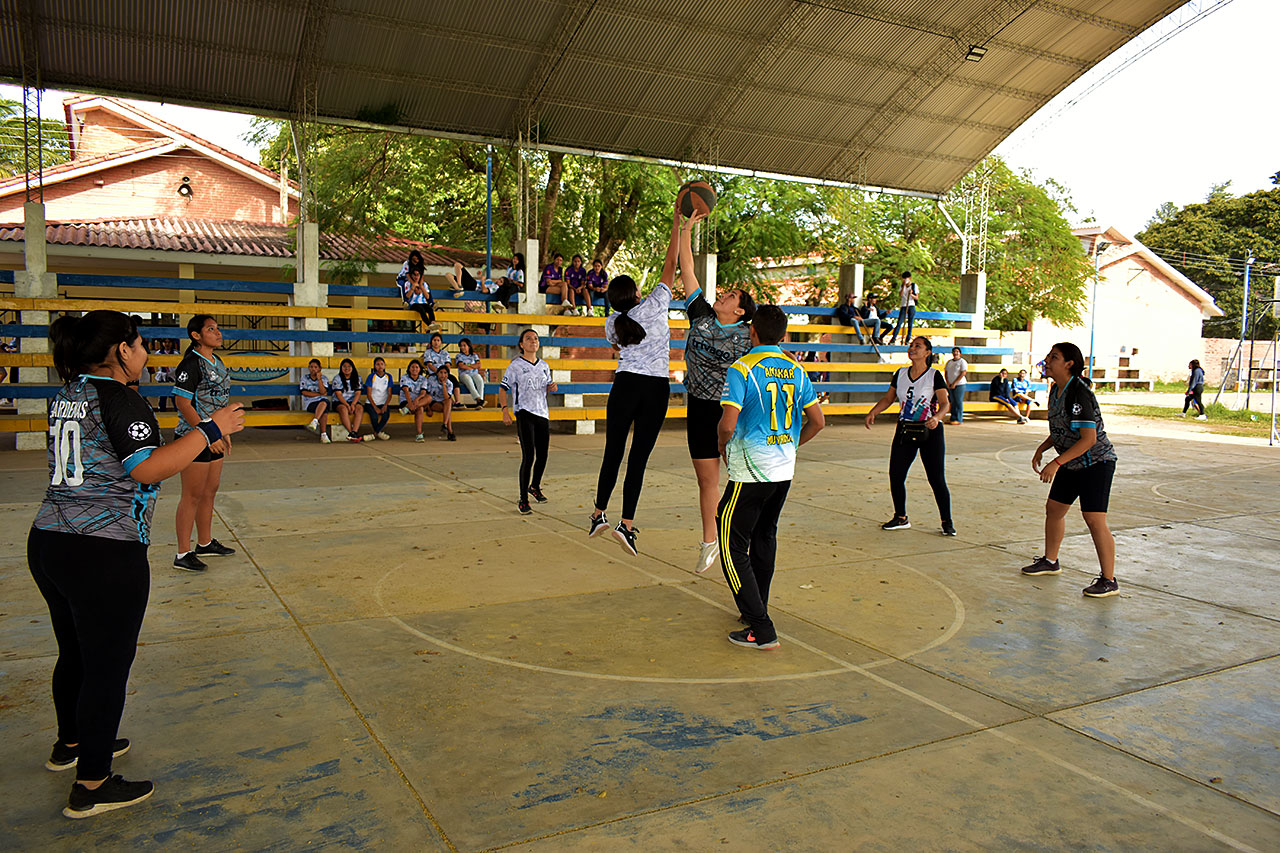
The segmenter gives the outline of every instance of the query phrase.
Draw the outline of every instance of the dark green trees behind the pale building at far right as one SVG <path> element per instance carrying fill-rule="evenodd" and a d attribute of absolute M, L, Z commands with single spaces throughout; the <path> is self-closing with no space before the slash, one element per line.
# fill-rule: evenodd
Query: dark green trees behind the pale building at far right
<path fill-rule="evenodd" d="M 1230 182 L 1213 184 L 1206 201 L 1172 213 L 1161 206 L 1138 240 L 1156 250 L 1178 272 L 1208 291 L 1226 315 L 1204 321 L 1206 337 L 1240 334 L 1244 309 L 1244 266 L 1249 252 L 1249 316 L 1258 316 L 1258 337 L 1271 337 L 1275 321 L 1260 316 L 1271 296 L 1271 277 L 1280 275 L 1280 190 L 1233 196 Z M 1158 219 L 1158 222 L 1157 222 Z M 1249 323 L 1251 330 L 1253 323 Z"/>

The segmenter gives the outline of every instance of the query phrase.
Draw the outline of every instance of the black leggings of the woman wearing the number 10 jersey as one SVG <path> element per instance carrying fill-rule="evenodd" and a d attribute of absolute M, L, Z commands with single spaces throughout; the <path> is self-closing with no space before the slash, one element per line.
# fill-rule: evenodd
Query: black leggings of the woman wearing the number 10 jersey
<path fill-rule="evenodd" d="M 58 740 L 79 744 L 77 779 L 106 779 L 124 712 L 124 688 L 147 611 L 147 547 L 32 528 L 27 565 L 49 603 L 58 640 Z"/>

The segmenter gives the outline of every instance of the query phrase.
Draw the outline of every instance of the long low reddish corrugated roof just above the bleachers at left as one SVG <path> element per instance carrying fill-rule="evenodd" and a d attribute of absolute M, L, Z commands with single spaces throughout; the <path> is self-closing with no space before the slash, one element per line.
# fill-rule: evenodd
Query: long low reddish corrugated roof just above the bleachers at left
<path fill-rule="evenodd" d="M 0 225 L 0 241 L 22 242 L 22 225 Z M 255 257 L 293 257 L 297 231 L 262 223 L 220 222 L 210 219 L 113 219 L 101 222 L 49 223 L 45 241 L 60 246 L 101 246 L 111 248 L 145 248 L 210 255 L 248 255 Z M 412 250 L 422 252 L 430 265 L 466 266 L 484 264 L 483 252 L 449 248 L 404 237 L 376 240 L 320 233 L 321 260 L 370 260 L 399 264 Z M 494 257 L 506 264 L 507 257 Z"/>

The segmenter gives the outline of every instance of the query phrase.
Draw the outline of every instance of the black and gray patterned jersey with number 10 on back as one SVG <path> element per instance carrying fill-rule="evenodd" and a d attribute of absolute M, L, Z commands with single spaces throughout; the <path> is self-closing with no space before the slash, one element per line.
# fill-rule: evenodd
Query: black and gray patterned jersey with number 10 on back
<path fill-rule="evenodd" d="M 50 402 L 49 437 L 49 489 L 33 526 L 150 544 L 160 484 L 129 473 L 163 442 L 138 392 L 79 377 Z"/>

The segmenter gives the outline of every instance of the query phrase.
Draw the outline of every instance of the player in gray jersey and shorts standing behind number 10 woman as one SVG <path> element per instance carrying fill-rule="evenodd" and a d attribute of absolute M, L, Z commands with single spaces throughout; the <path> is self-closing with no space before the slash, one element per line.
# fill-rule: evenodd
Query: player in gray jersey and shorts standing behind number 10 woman
<path fill-rule="evenodd" d="M 173 401 L 180 418 L 173 430 L 182 438 L 230 398 L 230 373 L 214 352 L 223 346 L 223 333 L 218 320 L 210 314 L 197 314 L 187 323 L 189 346 L 187 355 L 174 371 Z M 182 500 L 178 501 L 175 524 L 178 526 L 178 553 L 174 569 L 204 571 L 209 566 L 201 557 L 225 557 L 236 553 L 214 538 L 214 498 L 223 480 L 223 456 L 230 450 L 232 439 L 223 435 L 196 457 L 195 465 L 182 471 Z M 191 547 L 191 528 L 196 528 L 196 547 Z"/>

